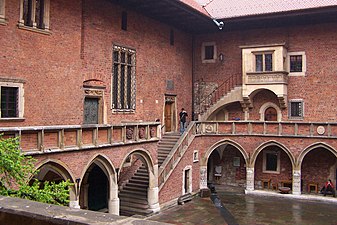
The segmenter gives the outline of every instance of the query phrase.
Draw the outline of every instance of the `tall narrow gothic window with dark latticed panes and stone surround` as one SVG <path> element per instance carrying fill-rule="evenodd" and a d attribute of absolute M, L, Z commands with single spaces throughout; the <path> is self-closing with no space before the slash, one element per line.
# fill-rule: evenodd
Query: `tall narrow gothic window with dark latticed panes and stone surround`
<path fill-rule="evenodd" d="M 135 110 L 135 61 L 136 52 L 115 45 L 113 47 L 112 109 Z"/>

